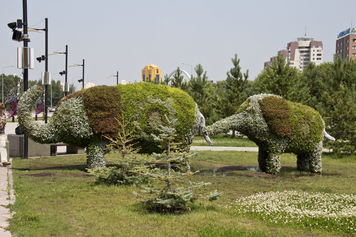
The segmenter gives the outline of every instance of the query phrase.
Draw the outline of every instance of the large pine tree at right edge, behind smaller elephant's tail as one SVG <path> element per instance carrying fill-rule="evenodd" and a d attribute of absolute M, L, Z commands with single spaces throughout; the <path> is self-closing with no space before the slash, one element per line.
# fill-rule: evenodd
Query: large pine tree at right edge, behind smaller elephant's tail
<path fill-rule="evenodd" d="M 334 62 L 324 67 L 326 92 L 317 107 L 324 117 L 326 129 L 336 141 L 329 142 L 335 152 L 356 152 L 356 60 L 334 56 Z"/>

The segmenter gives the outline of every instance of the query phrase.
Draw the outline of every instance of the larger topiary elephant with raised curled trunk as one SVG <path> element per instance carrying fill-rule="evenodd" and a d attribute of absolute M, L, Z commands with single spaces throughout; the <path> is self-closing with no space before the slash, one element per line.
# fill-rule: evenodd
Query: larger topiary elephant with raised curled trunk
<path fill-rule="evenodd" d="M 88 168 L 105 166 L 108 139 L 104 136 L 117 135 L 120 127 L 115 118 L 124 116 L 125 124 L 130 120 L 129 129 L 138 124 L 133 139 L 143 153 L 160 152 L 151 134 L 159 135 L 158 125 L 167 125 L 164 114 L 178 119 L 175 142 L 180 144 L 180 151 L 189 151 L 201 118 L 204 120 L 187 93 L 169 86 L 136 83 L 74 92 L 58 102 L 47 124 L 41 124 L 33 121 L 31 107 L 42 94 L 42 87 L 33 86 L 21 97 L 17 106 L 21 128 L 28 138 L 42 144 L 64 142 L 87 147 Z"/>

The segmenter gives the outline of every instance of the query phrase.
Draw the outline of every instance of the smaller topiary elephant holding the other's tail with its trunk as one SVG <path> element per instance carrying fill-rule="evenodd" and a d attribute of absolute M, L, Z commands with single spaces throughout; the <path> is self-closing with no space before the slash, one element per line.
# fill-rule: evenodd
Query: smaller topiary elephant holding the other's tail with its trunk
<path fill-rule="evenodd" d="M 298 170 L 320 173 L 323 136 L 335 141 L 313 108 L 272 94 L 251 96 L 236 114 L 202 129 L 206 136 L 229 130 L 239 131 L 258 145 L 258 165 L 272 174 L 280 171 L 282 152 L 297 155 Z"/>

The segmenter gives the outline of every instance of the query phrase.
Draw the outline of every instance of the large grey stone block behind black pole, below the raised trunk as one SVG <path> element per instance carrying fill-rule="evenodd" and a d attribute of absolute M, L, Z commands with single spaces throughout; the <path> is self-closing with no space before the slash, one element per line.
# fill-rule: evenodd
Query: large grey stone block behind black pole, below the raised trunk
<path fill-rule="evenodd" d="M 8 134 L 9 156 L 23 158 L 23 135 Z M 40 144 L 28 139 L 28 157 L 51 156 L 51 144 Z"/>

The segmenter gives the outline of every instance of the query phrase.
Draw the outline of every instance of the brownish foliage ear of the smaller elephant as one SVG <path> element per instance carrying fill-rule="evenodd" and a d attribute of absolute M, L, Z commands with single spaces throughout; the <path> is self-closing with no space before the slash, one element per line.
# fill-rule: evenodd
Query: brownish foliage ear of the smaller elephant
<path fill-rule="evenodd" d="M 276 96 L 267 96 L 258 102 L 272 133 L 282 138 L 289 137 L 291 128 L 288 102 Z"/>

